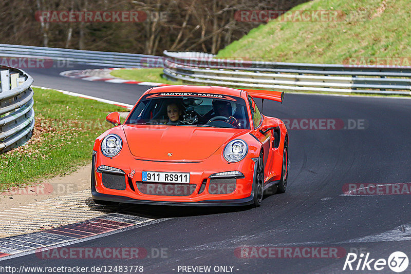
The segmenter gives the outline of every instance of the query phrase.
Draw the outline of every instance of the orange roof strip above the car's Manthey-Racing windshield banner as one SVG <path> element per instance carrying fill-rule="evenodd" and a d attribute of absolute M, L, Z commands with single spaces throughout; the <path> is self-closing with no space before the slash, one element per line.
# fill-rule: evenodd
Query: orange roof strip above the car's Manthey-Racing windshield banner
<path fill-rule="evenodd" d="M 211 94 L 223 94 L 240 97 L 241 90 L 235 88 L 216 87 L 216 86 L 189 86 L 189 85 L 170 85 L 154 87 L 148 93 L 158 92 L 204 92 Z"/>

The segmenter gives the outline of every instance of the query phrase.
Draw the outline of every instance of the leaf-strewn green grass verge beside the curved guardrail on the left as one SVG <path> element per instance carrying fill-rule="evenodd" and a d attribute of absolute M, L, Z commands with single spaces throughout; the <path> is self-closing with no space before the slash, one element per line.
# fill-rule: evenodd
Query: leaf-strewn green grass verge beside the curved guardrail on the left
<path fill-rule="evenodd" d="M 95 139 L 111 127 L 106 115 L 124 111 L 55 90 L 33 90 L 33 136 L 24 146 L 0 155 L 0 192 L 64 175 L 88 163 Z"/>

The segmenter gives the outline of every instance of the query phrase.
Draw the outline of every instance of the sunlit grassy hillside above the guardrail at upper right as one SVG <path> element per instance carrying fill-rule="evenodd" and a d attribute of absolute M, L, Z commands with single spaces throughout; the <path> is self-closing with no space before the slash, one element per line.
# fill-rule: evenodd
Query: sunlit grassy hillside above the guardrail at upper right
<path fill-rule="evenodd" d="M 290 12 L 302 10 L 342 12 L 337 20 L 325 22 L 270 21 L 220 50 L 218 56 L 328 64 L 346 64 L 348 58 L 360 57 L 411 59 L 409 0 L 314 0 Z M 352 16 L 361 13 L 363 17 Z"/>

